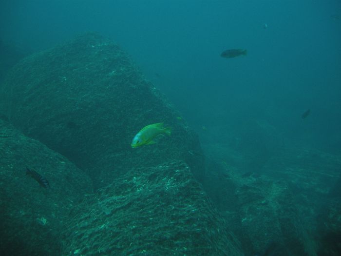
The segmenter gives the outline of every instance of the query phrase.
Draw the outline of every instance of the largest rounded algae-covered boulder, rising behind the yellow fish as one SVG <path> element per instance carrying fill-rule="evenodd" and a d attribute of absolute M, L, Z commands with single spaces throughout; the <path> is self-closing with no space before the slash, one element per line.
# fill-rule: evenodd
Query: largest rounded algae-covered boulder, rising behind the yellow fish
<path fill-rule="evenodd" d="M 196 177 L 203 176 L 196 136 L 109 39 L 86 34 L 24 58 L 0 88 L 0 97 L 0 113 L 75 162 L 96 187 L 131 168 L 170 159 L 186 161 Z M 134 135 L 157 122 L 170 126 L 171 136 L 132 149 Z"/>

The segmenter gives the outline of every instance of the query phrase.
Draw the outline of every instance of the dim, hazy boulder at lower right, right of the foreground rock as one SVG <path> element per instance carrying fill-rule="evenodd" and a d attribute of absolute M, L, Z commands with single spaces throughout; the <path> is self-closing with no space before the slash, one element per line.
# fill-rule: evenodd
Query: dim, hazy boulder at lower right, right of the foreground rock
<path fill-rule="evenodd" d="M 239 237 L 256 254 L 313 255 L 313 237 L 307 233 L 298 202 L 286 182 L 244 177 L 235 191 L 240 216 Z M 246 243 L 245 243 L 246 242 Z M 312 254 L 311 254 L 312 253 Z"/>

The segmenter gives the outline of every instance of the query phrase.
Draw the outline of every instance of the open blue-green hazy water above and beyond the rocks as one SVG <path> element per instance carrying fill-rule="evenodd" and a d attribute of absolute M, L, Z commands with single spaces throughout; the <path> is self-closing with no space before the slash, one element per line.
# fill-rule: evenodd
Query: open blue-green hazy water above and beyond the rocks
<path fill-rule="evenodd" d="M 288 138 L 338 150 L 340 9 L 338 0 L 3 0 L 0 34 L 34 52 L 98 32 L 195 128 L 259 118 Z M 230 48 L 247 57 L 221 58 Z"/>

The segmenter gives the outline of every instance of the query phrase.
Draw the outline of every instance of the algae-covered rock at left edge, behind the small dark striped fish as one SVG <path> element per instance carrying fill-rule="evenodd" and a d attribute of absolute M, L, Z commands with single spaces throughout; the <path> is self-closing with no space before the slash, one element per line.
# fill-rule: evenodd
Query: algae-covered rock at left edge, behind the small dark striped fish
<path fill-rule="evenodd" d="M 26 166 L 48 188 L 25 174 Z M 92 192 L 86 174 L 0 119 L 0 255 L 60 255 L 60 232 L 70 210 Z"/>

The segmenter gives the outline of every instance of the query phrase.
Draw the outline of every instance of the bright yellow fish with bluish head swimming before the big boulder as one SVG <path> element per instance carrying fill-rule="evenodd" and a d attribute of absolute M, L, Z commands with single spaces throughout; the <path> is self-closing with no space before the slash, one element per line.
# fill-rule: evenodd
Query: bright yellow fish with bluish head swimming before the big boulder
<path fill-rule="evenodd" d="M 139 131 L 132 141 L 132 148 L 156 143 L 153 138 L 160 134 L 170 135 L 170 127 L 163 127 L 163 123 L 153 123 L 147 125 Z"/>

